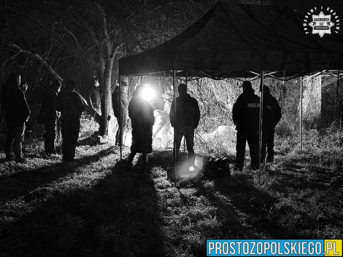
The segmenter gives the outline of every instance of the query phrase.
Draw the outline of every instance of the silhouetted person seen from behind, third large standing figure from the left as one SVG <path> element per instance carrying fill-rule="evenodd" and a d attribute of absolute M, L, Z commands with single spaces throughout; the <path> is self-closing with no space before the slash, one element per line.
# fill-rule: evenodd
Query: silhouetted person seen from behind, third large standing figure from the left
<path fill-rule="evenodd" d="M 61 112 L 62 160 L 66 163 L 75 163 L 80 118 L 85 109 L 81 96 L 75 92 L 74 88 L 74 81 L 67 80 L 65 88 L 56 98 L 56 110 Z"/>

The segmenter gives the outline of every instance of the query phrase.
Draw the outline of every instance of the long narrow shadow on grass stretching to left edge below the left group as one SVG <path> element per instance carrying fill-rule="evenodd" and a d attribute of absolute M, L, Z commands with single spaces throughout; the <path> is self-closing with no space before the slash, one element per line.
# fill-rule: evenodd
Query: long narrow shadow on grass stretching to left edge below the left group
<path fill-rule="evenodd" d="M 83 156 L 75 160 L 79 163 L 79 169 L 82 169 L 82 166 L 98 161 L 100 158 L 114 152 L 114 150 L 113 146 L 109 146 L 96 152 L 94 155 Z M 53 161 L 56 161 L 56 159 Z M 36 188 L 45 187 L 52 181 L 74 172 L 70 166 L 62 164 L 61 159 L 57 161 L 57 163 L 47 164 L 34 169 L 14 165 L 13 168 L 15 169 L 13 172 L 2 174 L 0 177 L 0 201 L 9 201 L 24 196 Z"/>

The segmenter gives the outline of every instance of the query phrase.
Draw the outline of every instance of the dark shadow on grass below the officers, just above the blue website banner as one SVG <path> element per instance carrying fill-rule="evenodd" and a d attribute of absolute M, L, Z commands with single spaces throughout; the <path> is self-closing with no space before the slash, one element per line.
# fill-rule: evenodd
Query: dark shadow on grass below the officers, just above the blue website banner
<path fill-rule="evenodd" d="M 229 215 L 223 220 L 224 233 L 232 238 L 289 238 L 290 235 L 270 217 L 269 210 L 277 197 L 258 188 L 243 175 L 215 180 L 215 186 L 220 195 L 227 196 L 232 204 Z M 221 199 L 214 197 L 212 201 L 220 203 Z"/>

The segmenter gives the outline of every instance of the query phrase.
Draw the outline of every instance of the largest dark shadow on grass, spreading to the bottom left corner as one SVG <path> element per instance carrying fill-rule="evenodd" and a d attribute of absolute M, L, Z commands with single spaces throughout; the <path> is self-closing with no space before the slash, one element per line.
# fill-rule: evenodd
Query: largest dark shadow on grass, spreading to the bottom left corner
<path fill-rule="evenodd" d="M 60 189 L 3 223 L 0 252 L 14 256 L 164 256 L 158 197 L 149 176 L 119 163 L 93 186 Z M 86 172 L 84 176 L 91 176 Z"/>

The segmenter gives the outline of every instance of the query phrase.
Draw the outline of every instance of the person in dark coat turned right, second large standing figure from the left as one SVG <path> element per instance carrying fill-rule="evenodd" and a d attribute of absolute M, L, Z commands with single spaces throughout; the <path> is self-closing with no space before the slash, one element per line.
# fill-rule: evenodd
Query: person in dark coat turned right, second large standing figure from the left
<path fill-rule="evenodd" d="M 56 111 L 56 97 L 61 89 L 61 83 L 54 79 L 51 85 L 45 90 L 42 96 L 42 107 L 39 113 L 39 122 L 44 123 L 44 149 L 45 157 L 56 154 L 56 121 L 58 112 Z"/>

